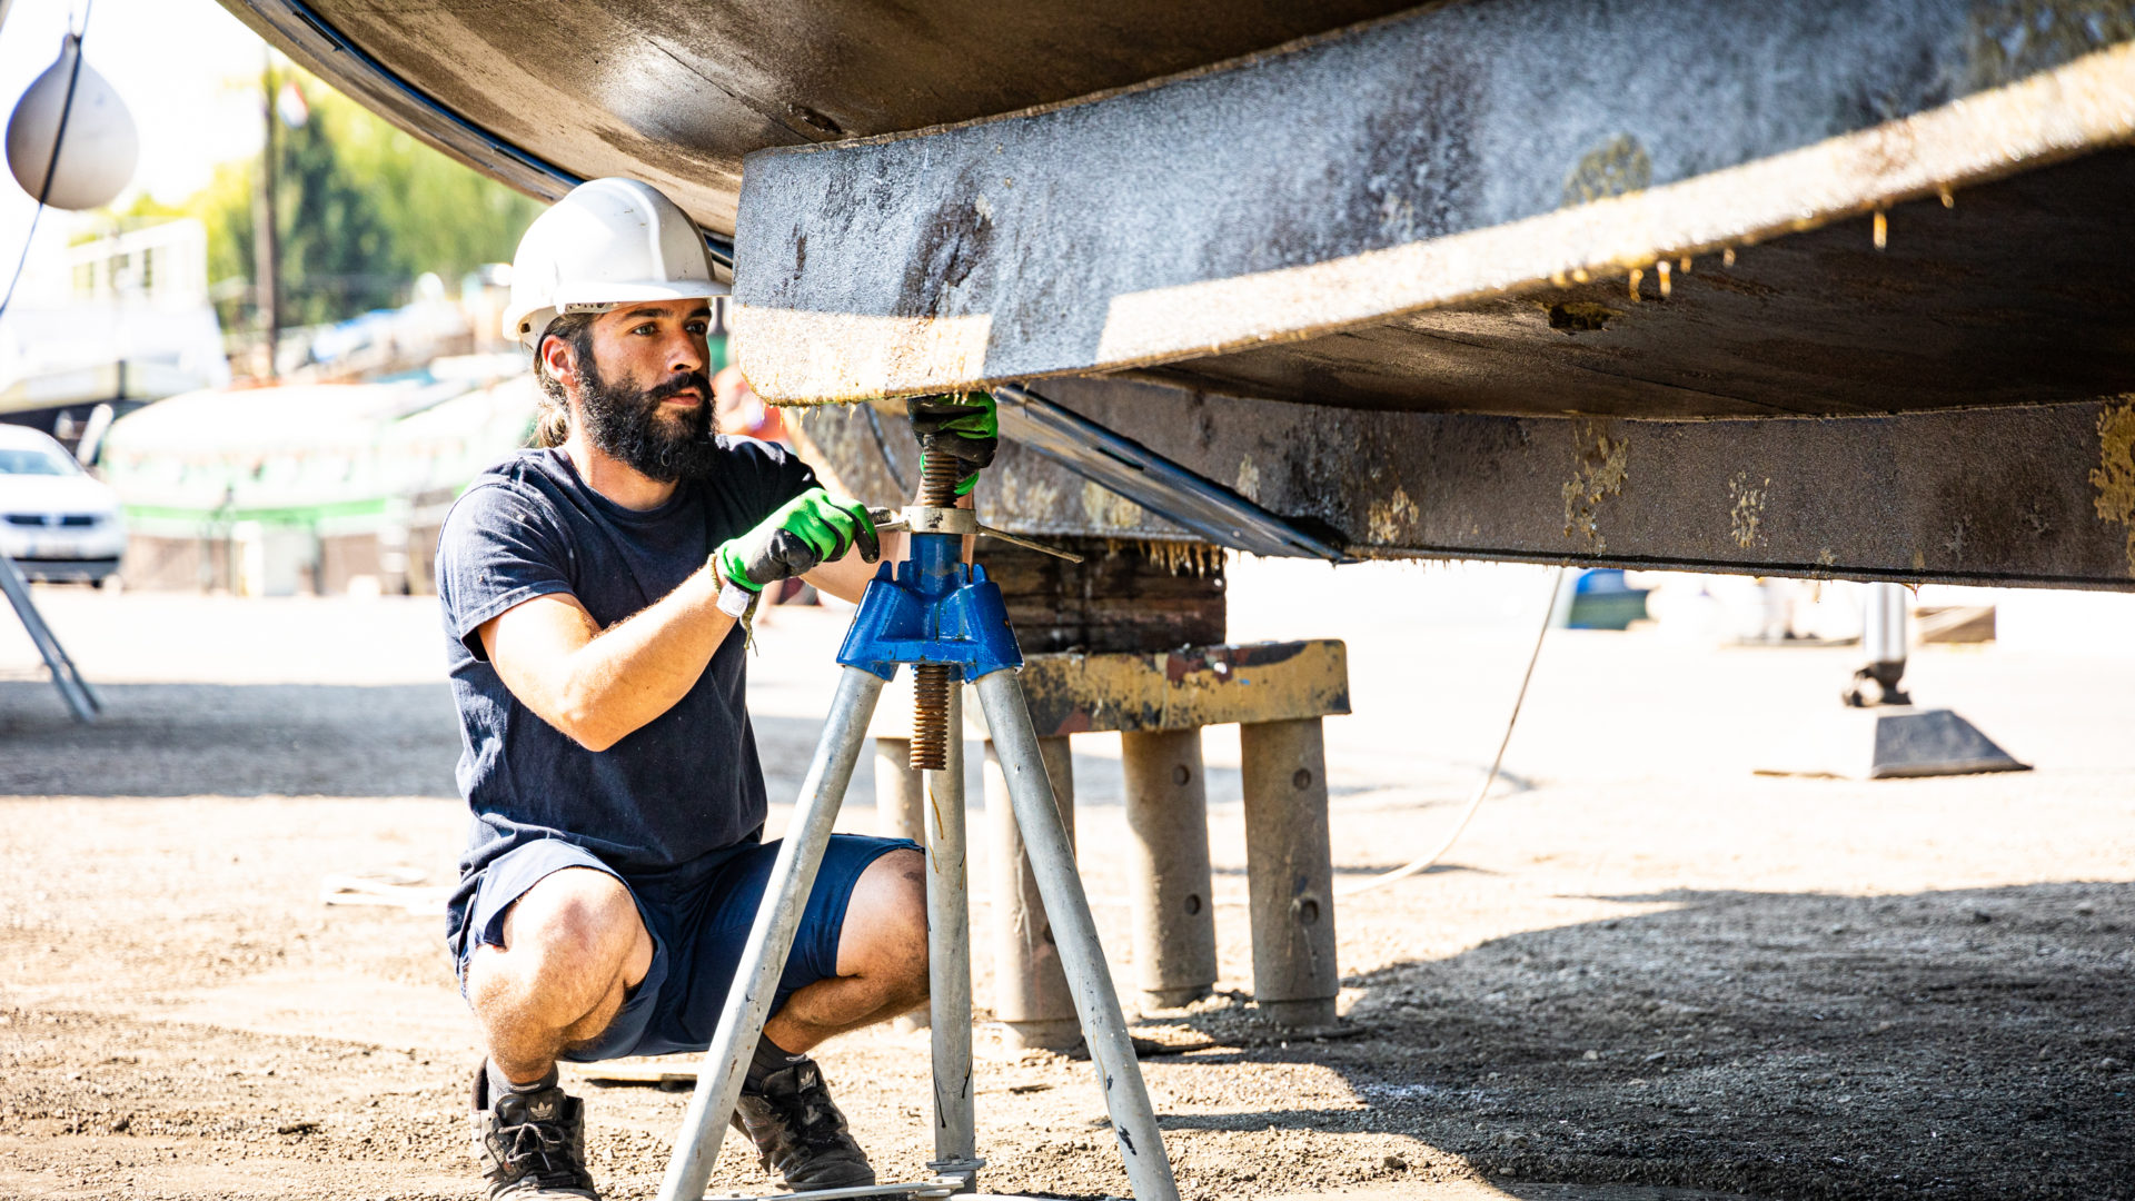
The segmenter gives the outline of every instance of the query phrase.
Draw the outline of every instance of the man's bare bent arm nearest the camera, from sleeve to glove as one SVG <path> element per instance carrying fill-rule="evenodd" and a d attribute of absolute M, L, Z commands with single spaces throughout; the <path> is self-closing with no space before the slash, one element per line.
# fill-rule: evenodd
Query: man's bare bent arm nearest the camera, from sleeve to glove
<path fill-rule="evenodd" d="M 483 650 L 504 686 L 587 750 L 606 750 L 675 707 L 726 641 L 709 568 L 606 630 L 568 592 L 536 596 L 483 622 Z"/>

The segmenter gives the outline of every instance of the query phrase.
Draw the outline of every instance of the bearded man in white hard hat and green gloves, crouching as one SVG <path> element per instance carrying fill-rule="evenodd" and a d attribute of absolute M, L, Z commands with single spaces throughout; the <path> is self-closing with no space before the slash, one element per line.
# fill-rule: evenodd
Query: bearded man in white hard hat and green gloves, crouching
<path fill-rule="evenodd" d="M 474 1139 L 493 1199 L 596 1197 L 557 1058 L 711 1041 L 777 853 L 734 626 L 766 583 L 856 600 L 873 575 L 860 504 L 779 447 L 711 434 L 724 291 L 645 184 L 594 180 L 542 214 L 504 314 L 547 393 L 538 449 L 483 472 L 438 541 L 474 810 L 448 942 L 489 1049 Z M 967 400 L 912 410 L 922 453 L 976 479 L 993 408 Z M 875 1180 L 807 1051 L 924 998 L 920 851 L 833 838 L 732 1116 L 790 1188 Z"/>

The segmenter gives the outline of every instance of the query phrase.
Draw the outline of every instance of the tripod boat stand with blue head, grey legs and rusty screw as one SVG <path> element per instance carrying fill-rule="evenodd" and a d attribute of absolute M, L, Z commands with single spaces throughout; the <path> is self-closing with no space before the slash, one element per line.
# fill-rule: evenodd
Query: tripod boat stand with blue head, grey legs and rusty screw
<path fill-rule="evenodd" d="M 929 464 L 931 468 L 933 464 Z M 944 468 L 954 468 L 944 459 Z M 1097 923 L 1076 874 L 1074 848 L 1053 799 L 1053 782 L 1016 671 L 1023 654 L 1001 590 L 986 571 L 963 562 L 963 536 L 991 534 L 969 509 L 954 509 L 954 477 L 929 470 L 920 504 L 886 528 L 910 532 L 910 558 L 884 564 L 860 598 L 839 650 L 841 680 L 822 742 L 801 784 L 786 840 L 779 844 L 762 906 L 749 930 L 741 968 L 726 994 L 719 1028 L 705 1051 L 696 1092 L 675 1137 L 675 1156 L 660 1201 L 698 1201 L 728 1116 L 741 1098 L 743 1073 L 762 1036 L 779 972 L 807 906 L 816 870 L 831 840 L 845 784 L 867 744 L 867 724 L 882 686 L 899 665 L 912 665 L 918 697 L 912 722 L 912 767 L 927 789 L 927 953 L 933 1004 L 935 1158 L 927 1180 L 867 1188 L 828 1188 L 809 1199 L 950 1197 L 974 1192 L 984 1160 L 976 1148 L 971 1096 L 971 917 L 965 878 L 963 684 L 976 684 L 995 757 L 1008 780 L 1010 808 L 1029 848 L 1040 900 L 1076 1017 L 1082 1026 L 1138 1201 L 1179 1201 L 1157 1116 L 1142 1086 L 1119 994 L 1097 945 Z"/>

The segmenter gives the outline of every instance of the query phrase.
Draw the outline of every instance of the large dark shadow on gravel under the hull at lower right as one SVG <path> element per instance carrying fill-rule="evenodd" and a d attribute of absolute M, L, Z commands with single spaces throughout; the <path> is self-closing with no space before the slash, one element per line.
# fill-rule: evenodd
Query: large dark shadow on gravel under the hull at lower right
<path fill-rule="evenodd" d="M 2135 1197 L 2135 885 L 1612 900 L 1672 908 L 1349 979 L 1358 1039 L 1193 1056 L 1319 1062 L 1362 1109 L 1168 1124 L 1405 1133 L 1512 1182 Z"/>

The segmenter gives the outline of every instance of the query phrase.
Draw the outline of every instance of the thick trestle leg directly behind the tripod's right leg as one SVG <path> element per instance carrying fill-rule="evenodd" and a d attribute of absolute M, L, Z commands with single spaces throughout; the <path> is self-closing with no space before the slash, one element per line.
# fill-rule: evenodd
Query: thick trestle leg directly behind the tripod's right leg
<path fill-rule="evenodd" d="M 1074 759 L 1065 737 L 1040 737 L 1038 750 L 1053 782 L 1053 801 L 1061 825 L 1074 842 Z M 1038 878 L 1016 827 L 1008 776 L 986 744 L 986 825 L 993 831 L 989 865 L 993 870 L 993 1015 L 1008 1026 L 1014 1047 L 1065 1051 L 1082 1041 L 1074 994 L 1061 970 L 1053 923 L 1038 900 Z"/>

